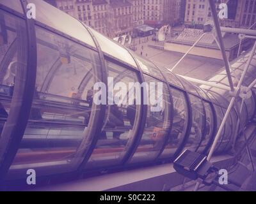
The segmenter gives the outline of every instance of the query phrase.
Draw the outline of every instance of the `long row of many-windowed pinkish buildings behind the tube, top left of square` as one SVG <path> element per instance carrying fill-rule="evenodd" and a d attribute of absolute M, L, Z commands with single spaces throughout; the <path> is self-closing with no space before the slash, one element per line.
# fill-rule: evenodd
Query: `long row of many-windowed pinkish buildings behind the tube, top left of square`
<path fill-rule="evenodd" d="M 52 1 L 60 10 L 110 38 L 132 34 L 134 27 L 143 24 L 161 27 L 183 22 L 186 7 L 186 0 Z"/>

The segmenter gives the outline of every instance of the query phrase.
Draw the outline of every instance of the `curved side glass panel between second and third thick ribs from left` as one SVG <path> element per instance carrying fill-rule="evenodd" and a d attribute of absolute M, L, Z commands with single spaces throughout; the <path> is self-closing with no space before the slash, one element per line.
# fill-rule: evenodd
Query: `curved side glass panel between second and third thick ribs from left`
<path fill-rule="evenodd" d="M 136 105 L 138 94 L 140 96 L 138 76 L 109 61 L 107 69 L 109 103 L 104 126 L 86 168 L 120 164 L 134 140 L 134 124 L 139 122 L 139 107 Z M 113 105 L 110 101 L 113 101 Z"/>

